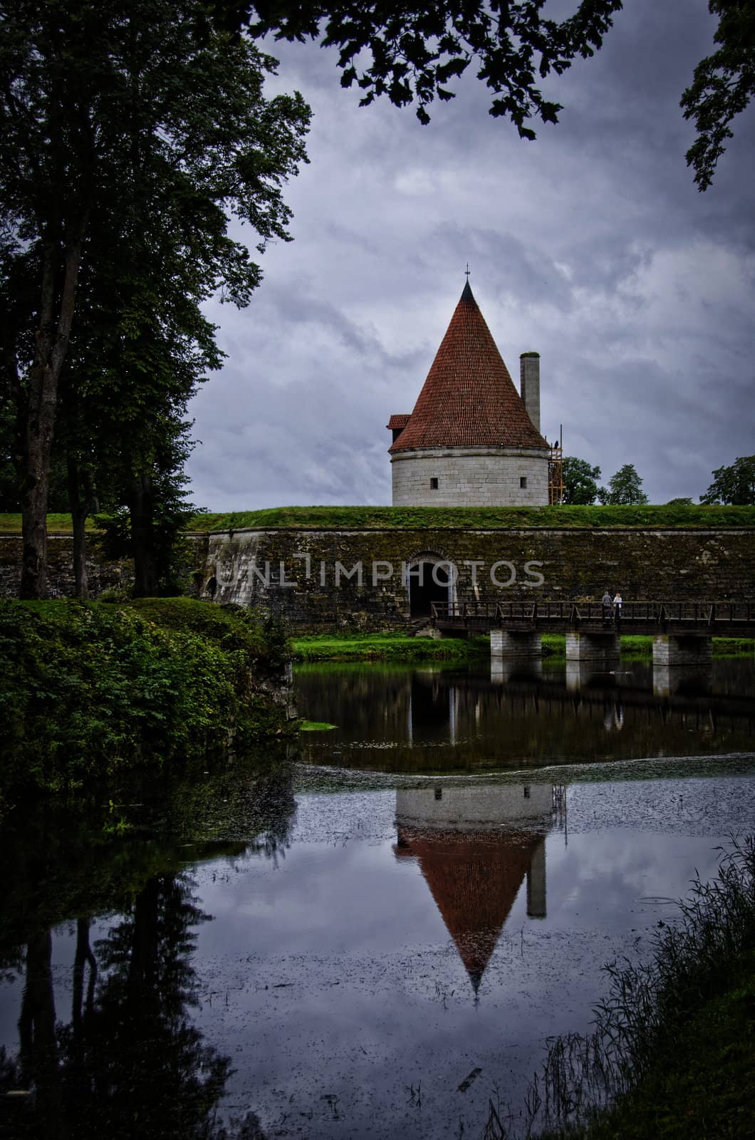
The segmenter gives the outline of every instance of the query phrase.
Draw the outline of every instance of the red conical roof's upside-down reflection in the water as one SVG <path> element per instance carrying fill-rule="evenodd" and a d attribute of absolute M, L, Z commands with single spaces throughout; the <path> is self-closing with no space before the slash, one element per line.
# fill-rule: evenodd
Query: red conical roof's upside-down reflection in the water
<path fill-rule="evenodd" d="M 413 857 L 477 993 L 542 836 L 398 828 L 398 857 Z"/>

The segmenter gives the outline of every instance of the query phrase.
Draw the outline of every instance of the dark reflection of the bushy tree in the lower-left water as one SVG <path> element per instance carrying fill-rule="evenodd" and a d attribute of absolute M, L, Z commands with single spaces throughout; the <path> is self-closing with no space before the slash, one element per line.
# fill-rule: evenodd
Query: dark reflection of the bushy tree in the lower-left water
<path fill-rule="evenodd" d="M 68 1062 L 81 1067 L 94 1093 L 81 1135 L 211 1133 L 229 1061 L 203 1044 L 186 1017 L 195 1003 L 189 928 L 206 918 L 185 876 L 156 876 L 97 944 L 106 972 L 82 1020 L 81 1048 L 71 1040 L 68 1049 Z"/>

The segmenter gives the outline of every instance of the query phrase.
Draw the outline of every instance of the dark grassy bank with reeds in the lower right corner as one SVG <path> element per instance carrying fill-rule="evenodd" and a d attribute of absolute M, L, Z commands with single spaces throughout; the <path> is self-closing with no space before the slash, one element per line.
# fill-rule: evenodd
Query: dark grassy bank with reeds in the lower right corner
<path fill-rule="evenodd" d="M 590 1039 L 551 1044 L 544 1078 L 581 1140 L 744 1140 L 755 1135 L 755 840 L 733 845 L 646 967 L 611 971 Z M 614 1107 L 591 1112 L 591 1094 Z M 577 1125 L 574 1130 L 574 1125 Z"/>

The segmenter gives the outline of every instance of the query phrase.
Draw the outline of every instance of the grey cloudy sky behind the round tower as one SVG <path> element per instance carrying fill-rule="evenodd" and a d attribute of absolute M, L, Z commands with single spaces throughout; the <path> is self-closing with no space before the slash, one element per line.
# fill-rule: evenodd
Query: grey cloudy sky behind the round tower
<path fill-rule="evenodd" d="M 310 164 L 251 306 L 209 309 L 228 359 L 192 405 L 194 502 L 390 503 L 385 424 L 412 410 L 466 262 L 515 383 L 539 351 L 542 430 L 563 425 L 565 454 L 606 480 L 634 463 L 665 503 L 755 453 L 755 108 L 705 194 L 679 108 L 714 30 L 706 0 L 627 0 L 549 84 L 563 111 L 535 142 L 472 78 L 421 127 L 359 108 L 331 52 L 276 44 L 279 89 L 312 107 Z"/>

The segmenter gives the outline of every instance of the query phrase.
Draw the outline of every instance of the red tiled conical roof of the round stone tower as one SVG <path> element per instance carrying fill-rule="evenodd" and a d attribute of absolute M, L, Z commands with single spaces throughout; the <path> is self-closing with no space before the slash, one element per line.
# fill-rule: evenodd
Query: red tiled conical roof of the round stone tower
<path fill-rule="evenodd" d="M 391 426 L 393 418 L 398 417 L 391 417 Z M 408 423 L 389 450 L 419 447 L 547 447 L 513 385 L 469 282 Z"/>

